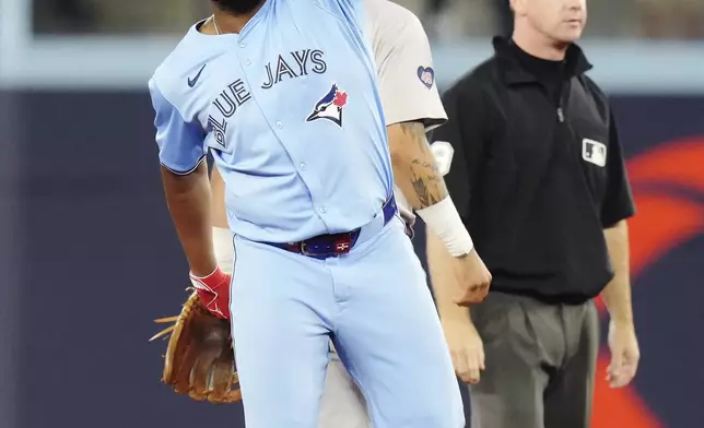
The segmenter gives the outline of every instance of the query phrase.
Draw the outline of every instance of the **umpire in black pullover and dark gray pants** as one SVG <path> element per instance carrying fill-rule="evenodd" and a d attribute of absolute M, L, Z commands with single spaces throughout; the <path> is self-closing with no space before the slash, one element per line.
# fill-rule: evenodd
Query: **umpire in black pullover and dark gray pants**
<path fill-rule="evenodd" d="M 612 388 L 635 376 L 626 221 L 635 207 L 614 115 L 575 44 L 584 0 L 512 0 L 513 38 L 444 94 L 446 176 L 492 273 L 486 299 L 453 301 L 432 235 L 432 283 L 473 428 L 589 427 L 601 296 Z"/>

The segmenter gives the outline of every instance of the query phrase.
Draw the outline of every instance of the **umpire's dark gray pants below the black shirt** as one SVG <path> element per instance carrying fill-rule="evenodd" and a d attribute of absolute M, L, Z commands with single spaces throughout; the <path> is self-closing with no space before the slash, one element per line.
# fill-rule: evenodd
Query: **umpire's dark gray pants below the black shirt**
<path fill-rule="evenodd" d="M 471 308 L 486 369 L 470 385 L 472 428 L 588 428 L 599 348 L 592 301 L 548 305 L 491 292 Z"/>

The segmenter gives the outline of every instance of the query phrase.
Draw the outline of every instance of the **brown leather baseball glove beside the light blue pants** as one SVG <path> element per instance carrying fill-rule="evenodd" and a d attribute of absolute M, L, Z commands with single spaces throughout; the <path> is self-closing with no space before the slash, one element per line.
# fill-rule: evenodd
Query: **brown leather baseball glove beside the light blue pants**
<path fill-rule="evenodd" d="M 235 403 L 242 400 L 230 322 L 210 313 L 195 290 L 179 316 L 154 322 L 173 323 L 150 338 L 151 342 L 171 334 L 162 382 L 198 401 Z"/>

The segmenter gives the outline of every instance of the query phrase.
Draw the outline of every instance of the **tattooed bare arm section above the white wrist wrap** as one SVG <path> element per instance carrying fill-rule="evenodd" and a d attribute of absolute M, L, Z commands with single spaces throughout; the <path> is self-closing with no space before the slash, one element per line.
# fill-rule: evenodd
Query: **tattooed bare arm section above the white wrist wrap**
<path fill-rule="evenodd" d="M 421 122 L 389 128 L 389 151 L 396 185 L 413 210 L 432 206 L 447 198 L 447 188 Z"/>

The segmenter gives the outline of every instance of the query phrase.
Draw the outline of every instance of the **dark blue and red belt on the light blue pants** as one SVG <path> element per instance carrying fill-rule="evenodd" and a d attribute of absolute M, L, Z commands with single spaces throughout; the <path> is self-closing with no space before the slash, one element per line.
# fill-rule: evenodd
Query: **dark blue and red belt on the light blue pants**
<path fill-rule="evenodd" d="M 396 198 L 391 195 L 382 207 L 384 215 L 384 226 L 386 226 L 391 221 L 391 218 L 394 218 L 397 211 L 398 209 L 396 206 Z M 352 231 L 318 235 L 316 237 L 298 242 L 271 245 L 298 254 L 305 254 L 316 259 L 327 259 L 349 253 L 360 238 L 361 231 L 362 228 L 359 227 Z"/>

